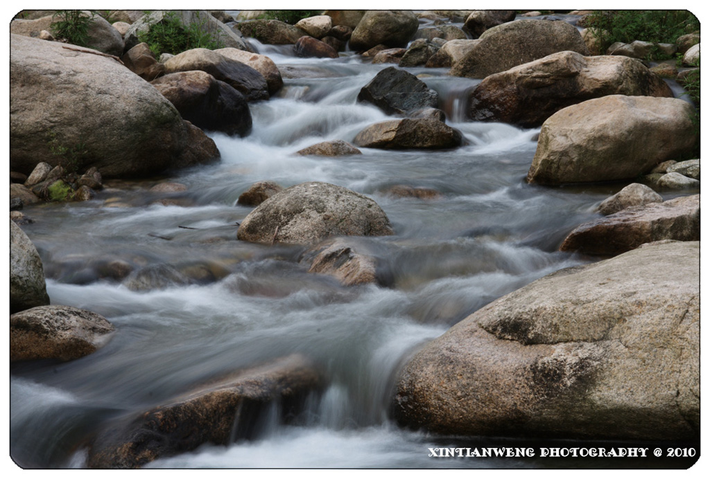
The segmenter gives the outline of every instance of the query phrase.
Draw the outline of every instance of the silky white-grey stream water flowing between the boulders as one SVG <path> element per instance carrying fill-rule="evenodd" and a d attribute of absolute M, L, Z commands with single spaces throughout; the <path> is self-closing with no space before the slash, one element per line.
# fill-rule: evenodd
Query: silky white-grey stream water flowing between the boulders
<path fill-rule="evenodd" d="M 501 295 L 592 259 L 557 252 L 594 206 L 623 185 L 543 188 L 525 183 L 539 130 L 464 120 L 475 80 L 410 69 L 439 92 L 447 123 L 467 145 L 446 151 L 362 149 L 361 156 L 300 157 L 323 140 L 351 142 L 385 120 L 356 103 L 388 64 L 358 55 L 300 59 L 258 45 L 285 86 L 251 105 L 244 138 L 209 133 L 217 164 L 143 181 L 107 181 L 93 201 L 26 208 L 23 225 L 45 266 L 52 304 L 104 315 L 116 326 L 95 354 L 11 366 L 11 454 L 26 467 L 82 467 L 82 441 L 100 424 L 160 405 L 219 373 L 300 353 L 328 385 L 297 424 L 263 419 L 253 441 L 202 446 L 148 467 L 534 467 L 509 459 L 446 463 L 428 447 L 446 438 L 398 427 L 388 417 L 395 374 L 417 346 Z M 366 237 L 383 261 L 386 286 L 343 287 L 308 274 L 303 248 L 236 240 L 251 208 L 236 205 L 251 184 L 326 181 L 364 193 L 395 235 Z M 178 181 L 177 205 L 148 188 Z M 442 198 L 394 198 L 395 184 L 435 188 Z M 195 228 L 195 229 L 187 229 Z M 102 274 L 123 261 L 162 286 L 133 291 Z M 175 274 L 178 271 L 178 274 Z"/>

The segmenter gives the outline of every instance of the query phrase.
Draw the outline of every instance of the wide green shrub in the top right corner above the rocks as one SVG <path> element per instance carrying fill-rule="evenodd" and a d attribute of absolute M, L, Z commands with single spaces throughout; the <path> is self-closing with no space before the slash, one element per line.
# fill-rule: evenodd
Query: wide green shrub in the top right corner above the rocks
<path fill-rule="evenodd" d="M 586 18 L 585 25 L 603 32 L 597 39 L 601 51 L 615 42 L 675 43 L 679 36 L 700 28 L 697 17 L 687 10 L 594 11 Z M 659 49 L 652 54 L 652 59 L 664 59 Z"/>

